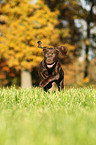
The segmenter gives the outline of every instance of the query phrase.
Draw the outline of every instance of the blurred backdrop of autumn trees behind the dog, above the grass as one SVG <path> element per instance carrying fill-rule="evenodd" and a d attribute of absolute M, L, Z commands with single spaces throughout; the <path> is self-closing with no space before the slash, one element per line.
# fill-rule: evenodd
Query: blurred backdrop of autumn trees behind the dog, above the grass
<path fill-rule="evenodd" d="M 0 87 L 38 86 L 43 51 L 65 45 L 65 86 L 96 85 L 96 0 L 0 0 Z"/>

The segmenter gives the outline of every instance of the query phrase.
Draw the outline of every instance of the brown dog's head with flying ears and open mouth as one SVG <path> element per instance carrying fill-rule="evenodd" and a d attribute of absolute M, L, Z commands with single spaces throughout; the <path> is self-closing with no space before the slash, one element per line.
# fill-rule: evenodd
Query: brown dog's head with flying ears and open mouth
<path fill-rule="evenodd" d="M 61 53 L 61 55 L 66 55 L 67 53 L 67 48 L 65 46 L 49 48 L 49 47 L 41 47 L 42 44 L 41 41 L 38 41 L 37 43 L 38 47 L 42 48 L 44 51 L 44 60 L 48 68 L 52 68 L 56 64 L 59 52 Z"/>

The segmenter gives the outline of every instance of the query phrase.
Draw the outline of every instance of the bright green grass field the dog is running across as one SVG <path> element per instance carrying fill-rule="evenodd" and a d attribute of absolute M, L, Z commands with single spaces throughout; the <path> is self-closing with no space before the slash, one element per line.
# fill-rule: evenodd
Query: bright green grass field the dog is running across
<path fill-rule="evenodd" d="M 0 145 L 96 145 L 96 89 L 0 89 Z"/>

